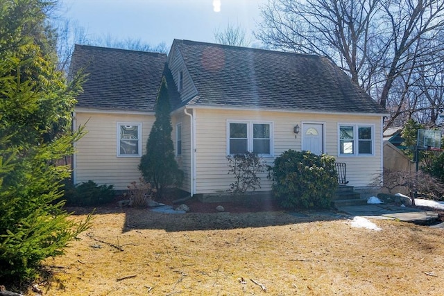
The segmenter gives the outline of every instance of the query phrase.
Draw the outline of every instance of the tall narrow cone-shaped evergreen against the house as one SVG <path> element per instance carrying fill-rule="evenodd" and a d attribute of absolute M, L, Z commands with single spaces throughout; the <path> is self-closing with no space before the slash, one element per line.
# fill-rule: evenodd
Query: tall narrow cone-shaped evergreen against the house
<path fill-rule="evenodd" d="M 146 141 L 146 154 L 139 164 L 145 181 L 151 183 L 160 196 L 168 186 L 180 185 L 183 176 L 174 158 L 170 111 L 167 81 L 163 78 L 155 105 L 155 121 Z"/>

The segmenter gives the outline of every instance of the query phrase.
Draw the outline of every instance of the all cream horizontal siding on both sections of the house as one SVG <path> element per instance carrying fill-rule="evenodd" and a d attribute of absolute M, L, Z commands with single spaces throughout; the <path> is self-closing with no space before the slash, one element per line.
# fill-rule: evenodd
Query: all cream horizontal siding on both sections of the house
<path fill-rule="evenodd" d="M 226 191 L 233 182 L 228 175 L 227 121 L 271 121 L 273 122 L 273 151 L 278 157 L 284 151 L 301 148 L 301 133 L 296 137 L 293 127 L 302 123 L 323 123 L 325 125 L 325 153 L 336 157 L 337 162 L 347 164 L 347 180 L 352 186 L 368 186 L 376 174 L 382 171 L 382 128 L 379 116 L 344 116 L 335 114 L 304 114 L 287 112 L 257 112 L 246 110 L 189 110 L 194 113 L 196 129 L 196 192 L 214 193 Z M 140 114 L 101 114 L 77 112 L 76 125 L 86 123 L 88 133 L 76 143 L 74 176 L 75 182 L 93 180 L 97 184 L 114 184 L 117 190 L 126 190 L 130 182 L 140 177 L 137 166 L 140 157 L 117 157 L 117 122 L 142 123 L 142 154 L 155 117 Z M 184 172 L 181 189 L 191 191 L 191 119 L 183 110 L 171 116 L 173 143 L 176 145 L 176 123 L 182 123 L 182 155 L 176 157 Z M 338 156 L 339 123 L 371 124 L 375 128 L 372 156 Z M 176 148 L 176 147 L 175 147 Z M 264 158 L 273 164 L 274 157 Z M 261 189 L 271 189 L 271 181 L 261 176 Z"/>

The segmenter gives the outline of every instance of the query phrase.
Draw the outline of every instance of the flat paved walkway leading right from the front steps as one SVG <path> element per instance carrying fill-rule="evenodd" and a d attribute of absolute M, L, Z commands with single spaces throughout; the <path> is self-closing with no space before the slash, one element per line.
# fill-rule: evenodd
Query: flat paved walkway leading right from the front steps
<path fill-rule="evenodd" d="M 361 216 L 372 219 L 398 219 L 418 225 L 436 225 L 436 223 L 438 223 L 438 214 L 434 211 L 424 211 L 411 207 L 398 207 L 390 204 L 365 204 L 360 206 L 338 207 L 337 209 L 351 216 Z"/>

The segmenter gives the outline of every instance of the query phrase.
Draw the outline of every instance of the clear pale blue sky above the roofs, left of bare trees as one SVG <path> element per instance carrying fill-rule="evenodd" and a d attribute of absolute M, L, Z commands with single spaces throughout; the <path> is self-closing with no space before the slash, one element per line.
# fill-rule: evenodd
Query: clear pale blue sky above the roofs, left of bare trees
<path fill-rule="evenodd" d="M 220 12 L 214 11 L 220 3 Z M 85 28 L 87 37 L 141 40 L 151 46 L 174 38 L 214 42 L 214 31 L 241 26 L 248 36 L 267 0 L 60 0 L 62 17 Z M 254 44 L 255 42 L 253 42 Z M 251 45 L 253 45 L 251 44 Z"/>

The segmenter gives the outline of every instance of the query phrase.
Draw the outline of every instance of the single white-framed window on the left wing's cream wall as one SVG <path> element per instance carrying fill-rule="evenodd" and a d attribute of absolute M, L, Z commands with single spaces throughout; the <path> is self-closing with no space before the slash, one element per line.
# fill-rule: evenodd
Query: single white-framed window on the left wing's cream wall
<path fill-rule="evenodd" d="M 117 123 L 117 156 L 142 155 L 142 123 Z"/>

